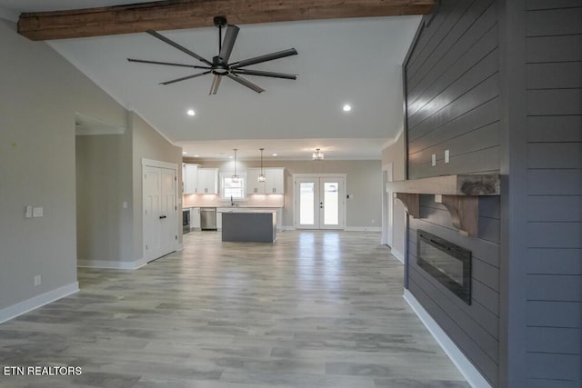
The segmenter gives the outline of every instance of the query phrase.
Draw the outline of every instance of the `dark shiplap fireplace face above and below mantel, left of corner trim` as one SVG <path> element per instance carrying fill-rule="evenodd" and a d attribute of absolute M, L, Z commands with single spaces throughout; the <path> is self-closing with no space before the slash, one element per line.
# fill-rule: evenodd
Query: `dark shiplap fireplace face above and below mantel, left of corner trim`
<path fill-rule="evenodd" d="M 408 179 L 499 172 L 497 39 L 494 0 L 444 0 L 421 30 L 405 65 Z M 437 166 L 431 166 L 432 154 Z M 416 266 L 416 229 L 472 251 L 471 305 Z M 407 253 L 409 291 L 493 386 L 499 363 L 499 231 L 498 197 L 480 199 L 479 235 L 468 238 L 434 196 L 422 195 L 420 217 L 410 218 Z"/>

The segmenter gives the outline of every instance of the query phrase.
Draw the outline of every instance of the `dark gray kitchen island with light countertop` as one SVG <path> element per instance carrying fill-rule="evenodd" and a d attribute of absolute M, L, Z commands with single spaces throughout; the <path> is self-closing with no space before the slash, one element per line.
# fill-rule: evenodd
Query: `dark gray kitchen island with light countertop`
<path fill-rule="evenodd" d="M 237 211 L 222 213 L 222 241 L 275 243 L 276 210 Z"/>

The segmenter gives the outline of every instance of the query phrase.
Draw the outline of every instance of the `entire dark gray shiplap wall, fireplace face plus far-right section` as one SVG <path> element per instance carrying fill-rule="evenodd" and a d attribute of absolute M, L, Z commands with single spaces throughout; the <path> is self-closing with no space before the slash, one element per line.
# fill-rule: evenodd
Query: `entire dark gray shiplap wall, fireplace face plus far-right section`
<path fill-rule="evenodd" d="M 582 4 L 449 0 L 425 21 L 406 65 L 409 178 L 499 171 L 502 194 L 480 199 L 475 239 L 421 198 L 410 291 L 493 385 L 579 387 Z M 473 251 L 478 308 L 416 268 L 417 228 Z"/>

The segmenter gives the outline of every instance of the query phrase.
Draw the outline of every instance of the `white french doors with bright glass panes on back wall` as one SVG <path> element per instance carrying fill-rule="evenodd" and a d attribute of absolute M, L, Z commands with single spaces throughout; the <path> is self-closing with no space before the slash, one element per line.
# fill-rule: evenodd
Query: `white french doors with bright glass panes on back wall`
<path fill-rule="evenodd" d="M 344 176 L 297 176 L 296 228 L 344 229 L 345 192 Z"/>

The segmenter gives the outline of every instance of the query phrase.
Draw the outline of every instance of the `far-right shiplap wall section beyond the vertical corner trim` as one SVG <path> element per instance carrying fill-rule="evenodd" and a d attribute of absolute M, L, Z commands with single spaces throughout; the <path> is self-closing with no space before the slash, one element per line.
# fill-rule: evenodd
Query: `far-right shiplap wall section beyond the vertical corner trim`
<path fill-rule="evenodd" d="M 529 0 L 527 386 L 582 386 L 582 1 Z"/>

